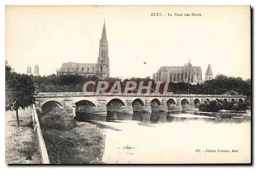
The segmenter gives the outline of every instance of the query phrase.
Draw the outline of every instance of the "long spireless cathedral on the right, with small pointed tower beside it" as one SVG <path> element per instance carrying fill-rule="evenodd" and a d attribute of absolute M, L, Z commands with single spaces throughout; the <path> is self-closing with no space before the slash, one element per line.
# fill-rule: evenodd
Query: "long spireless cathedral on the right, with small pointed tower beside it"
<path fill-rule="evenodd" d="M 202 69 L 200 66 L 192 66 L 189 62 L 184 66 L 161 66 L 157 73 L 153 74 L 155 81 L 170 81 L 174 83 L 185 82 L 190 84 L 202 83 Z M 205 73 L 205 80 L 212 79 L 210 64 Z"/>

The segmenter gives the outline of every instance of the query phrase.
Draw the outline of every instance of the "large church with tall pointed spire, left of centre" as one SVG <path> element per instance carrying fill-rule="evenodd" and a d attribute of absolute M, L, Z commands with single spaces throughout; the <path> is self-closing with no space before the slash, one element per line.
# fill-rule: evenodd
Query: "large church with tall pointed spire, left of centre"
<path fill-rule="evenodd" d="M 63 63 L 57 75 L 81 75 L 81 76 L 97 76 L 99 79 L 110 77 L 109 67 L 109 46 L 106 38 L 105 19 L 101 39 L 99 40 L 99 56 L 97 63 Z"/>

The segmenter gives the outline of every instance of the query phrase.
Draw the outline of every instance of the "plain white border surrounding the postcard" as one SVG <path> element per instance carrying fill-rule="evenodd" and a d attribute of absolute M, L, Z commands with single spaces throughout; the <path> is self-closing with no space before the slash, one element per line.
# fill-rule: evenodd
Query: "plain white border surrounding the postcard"
<path fill-rule="evenodd" d="M 4 110 L 4 102 L 5 102 L 5 68 L 4 68 L 4 58 L 5 58 L 5 5 L 251 5 L 252 8 L 255 7 L 255 0 L 243 0 L 243 1 L 224 1 L 224 0 L 215 0 L 215 1 L 204 1 L 204 0 L 197 0 L 197 1 L 189 1 L 189 0 L 179 0 L 179 1 L 166 1 L 166 0 L 144 0 L 144 1 L 138 1 L 138 0 L 123 0 L 123 1 L 118 1 L 118 0 L 111 0 L 111 1 L 106 1 L 106 0 L 93 0 L 93 1 L 78 1 L 78 0 L 61 0 L 61 1 L 53 1 L 53 0 L 40 0 L 40 1 L 33 1 L 33 0 L 26 0 L 26 1 L 20 1 L 20 0 L 2 0 L 0 1 L 0 9 L 1 9 L 1 54 L 3 57 L 3 59 L 0 60 L 0 64 L 3 65 L 1 66 L 1 91 L 2 94 L 1 96 L 1 107 Z M 255 10 L 254 10 L 255 13 Z M 253 17 L 253 21 L 255 22 L 255 17 Z M 255 28 L 254 28 L 255 30 Z M 255 35 L 253 36 L 255 39 Z M 255 49 L 255 43 L 253 44 L 253 49 Z M 254 63 L 254 62 L 253 62 Z M 253 64 L 255 65 L 255 64 Z M 255 78 L 255 72 L 253 71 L 253 76 Z M 254 92 L 253 92 L 254 95 Z M 253 100 L 253 105 L 254 105 L 254 100 Z M 253 110 L 252 110 L 253 111 Z M 253 111 L 254 112 L 254 111 Z M 2 128 L 1 128 L 1 133 L 2 133 L 2 139 L 1 139 L 1 154 L 0 154 L 0 159 L 1 161 L 1 165 L 3 165 L 3 167 L 1 168 L 7 168 L 8 166 L 5 164 L 5 136 L 3 133 L 5 133 L 5 113 L 4 111 L 2 112 Z M 252 119 L 254 120 L 254 119 Z M 254 133 L 255 134 L 255 131 Z M 254 140 L 253 140 L 254 143 Z M 255 159 L 253 159 L 253 161 L 255 162 Z M 62 166 L 62 165 L 61 165 Z M 79 165 L 81 166 L 81 165 Z M 90 166 L 81 166 L 81 167 L 91 167 Z M 17 166 L 16 166 L 17 167 Z M 28 167 L 28 165 L 24 165 L 24 167 Z M 38 167 L 38 166 L 32 166 L 32 167 Z M 46 166 L 47 168 L 51 168 L 53 167 L 53 165 L 51 166 Z M 65 166 L 67 168 L 73 168 L 73 166 Z M 77 166 L 75 166 L 77 167 Z M 99 167 L 99 166 L 93 166 L 93 167 Z M 122 166 L 115 166 L 115 167 L 122 167 Z M 126 166 L 127 167 L 127 166 Z M 129 167 L 138 167 L 138 166 L 129 166 Z M 142 167 L 142 166 L 140 166 Z M 148 166 L 145 166 L 148 167 Z M 159 166 L 154 166 L 154 167 L 159 167 Z M 168 166 L 169 167 L 169 166 Z M 174 166 L 170 166 L 170 167 L 174 167 Z M 179 166 L 179 167 L 186 167 L 185 166 Z M 207 166 L 204 166 L 207 167 Z M 222 168 L 225 166 L 213 166 L 213 167 L 218 167 L 218 168 Z M 242 167 L 242 166 L 241 166 Z M 243 166 L 244 167 L 244 166 Z"/>

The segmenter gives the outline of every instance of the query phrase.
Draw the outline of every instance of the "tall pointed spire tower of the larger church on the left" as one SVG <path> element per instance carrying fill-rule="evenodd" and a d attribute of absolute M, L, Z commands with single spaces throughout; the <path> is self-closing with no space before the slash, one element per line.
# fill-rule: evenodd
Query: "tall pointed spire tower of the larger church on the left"
<path fill-rule="evenodd" d="M 105 19 L 101 39 L 99 40 L 99 56 L 97 61 L 97 77 L 99 79 L 110 77 L 109 45 L 106 38 Z"/>

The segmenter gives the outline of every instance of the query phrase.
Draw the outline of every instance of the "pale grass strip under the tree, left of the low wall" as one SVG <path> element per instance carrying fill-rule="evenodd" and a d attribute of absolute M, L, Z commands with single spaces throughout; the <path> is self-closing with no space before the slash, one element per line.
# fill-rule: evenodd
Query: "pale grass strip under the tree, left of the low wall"
<path fill-rule="evenodd" d="M 37 136 L 33 132 L 31 109 L 19 110 L 20 127 L 17 127 L 16 112 L 6 111 L 5 155 L 7 164 L 40 164 Z M 32 160 L 26 160 L 28 156 Z"/>

